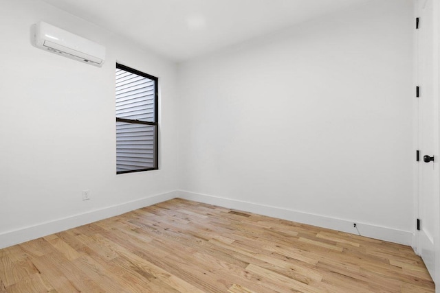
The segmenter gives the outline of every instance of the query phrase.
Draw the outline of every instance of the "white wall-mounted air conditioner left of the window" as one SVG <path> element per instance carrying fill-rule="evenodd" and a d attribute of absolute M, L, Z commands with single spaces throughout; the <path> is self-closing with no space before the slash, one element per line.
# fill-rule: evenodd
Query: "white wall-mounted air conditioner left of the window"
<path fill-rule="evenodd" d="M 34 46 L 52 53 L 101 67 L 105 47 L 59 27 L 40 21 L 33 27 Z"/>

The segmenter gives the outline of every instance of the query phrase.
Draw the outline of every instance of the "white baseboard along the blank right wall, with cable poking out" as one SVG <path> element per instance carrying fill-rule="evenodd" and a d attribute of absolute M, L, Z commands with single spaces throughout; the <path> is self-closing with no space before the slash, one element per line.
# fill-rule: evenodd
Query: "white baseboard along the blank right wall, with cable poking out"
<path fill-rule="evenodd" d="M 186 200 L 195 200 L 206 204 L 214 204 L 228 209 L 238 209 L 241 211 L 249 211 L 260 215 L 267 215 L 274 218 L 281 218 L 293 222 L 330 228 L 337 231 L 358 234 L 356 228 L 353 227 L 354 221 L 342 220 L 338 218 L 329 218 L 322 215 L 314 215 L 292 209 L 283 209 L 281 207 L 271 207 L 263 204 L 255 204 L 252 202 L 244 202 L 241 200 L 232 200 L 230 198 L 219 198 L 217 196 L 208 196 L 206 194 L 195 194 L 189 191 L 177 191 L 179 198 Z M 380 239 L 388 242 L 404 244 L 410 246 L 412 244 L 412 232 L 401 231 L 394 228 L 383 226 L 375 226 L 362 222 L 356 222 L 362 236 Z"/>

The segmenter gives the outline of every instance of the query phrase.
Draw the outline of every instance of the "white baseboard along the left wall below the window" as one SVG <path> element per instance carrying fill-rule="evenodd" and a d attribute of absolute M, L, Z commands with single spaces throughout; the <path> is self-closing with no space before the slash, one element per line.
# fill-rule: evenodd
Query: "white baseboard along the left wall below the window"
<path fill-rule="evenodd" d="M 170 191 L 165 194 L 159 194 L 156 196 L 150 196 L 148 198 L 142 198 L 132 202 L 124 202 L 123 204 L 114 205 L 111 207 L 104 207 L 94 211 L 88 211 L 87 213 L 81 213 L 78 215 L 72 215 L 67 218 L 54 220 L 51 222 L 44 222 L 36 224 L 34 226 L 28 226 L 20 228 L 14 231 L 8 231 L 0 234 L 0 248 L 5 248 L 22 242 L 26 242 L 32 239 L 58 233 L 61 231 L 75 228 L 99 220 L 114 217 L 115 215 L 122 215 L 135 209 L 142 207 L 148 207 L 152 204 L 164 202 L 176 198 L 179 194 L 177 191 Z"/>

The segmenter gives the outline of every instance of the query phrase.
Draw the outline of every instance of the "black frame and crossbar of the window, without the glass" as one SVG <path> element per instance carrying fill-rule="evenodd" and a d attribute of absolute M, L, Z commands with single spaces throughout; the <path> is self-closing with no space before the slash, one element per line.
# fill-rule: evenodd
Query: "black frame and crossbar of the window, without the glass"
<path fill-rule="evenodd" d="M 158 106 L 158 102 L 159 102 L 159 78 L 150 75 L 148 73 L 144 73 L 142 71 L 138 71 L 137 69 L 133 69 L 131 67 L 128 67 L 126 65 L 122 65 L 118 62 L 116 62 L 116 69 L 122 69 L 124 71 L 130 72 L 130 73 L 134 73 L 140 76 L 143 76 L 144 78 L 148 78 L 150 80 L 153 80 L 155 83 L 155 93 L 154 93 L 154 121 L 150 122 L 150 121 L 140 121 L 137 119 L 125 119 L 125 118 L 118 118 L 116 117 L 116 122 L 124 122 L 124 123 L 131 123 L 131 124 L 144 124 L 144 125 L 149 125 L 149 126 L 154 126 L 155 127 L 155 132 L 154 132 L 154 165 L 155 167 L 151 167 L 151 168 L 142 168 L 142 169 L 133 169 L 133 170 L 126 170 L 126 171 L 118 171 L 116 170 L 116 174 L 126 174 L 126 173 L 134 173 L 134 172 L 144 172 L 144 171 L 151 171 L 151 170 L 158 170 L 159 169 L 159 106 Z"/>

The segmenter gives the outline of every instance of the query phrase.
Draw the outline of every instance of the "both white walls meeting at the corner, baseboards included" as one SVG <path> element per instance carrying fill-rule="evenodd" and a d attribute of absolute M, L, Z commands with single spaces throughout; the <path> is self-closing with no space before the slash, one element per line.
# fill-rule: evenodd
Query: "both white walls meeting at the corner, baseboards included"
<path fill-rule="evenodd" d="M 107 62 L 32 47 L 40 20 L 102 43 Z M 413 24 L 411 0 L 373 0 L 177 73 L 39 0 L 1 1 L 0 248 L 174 196 L 407 235 Z M 159 77 L 158 171 L 115 174 L 116 60 Z"/>

